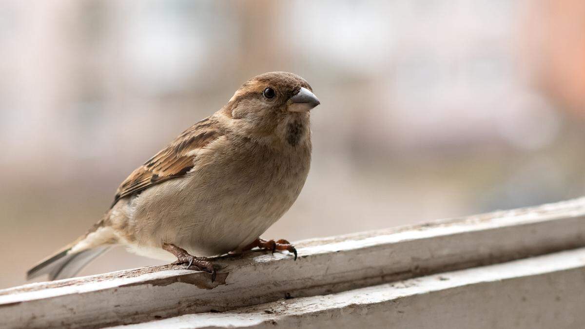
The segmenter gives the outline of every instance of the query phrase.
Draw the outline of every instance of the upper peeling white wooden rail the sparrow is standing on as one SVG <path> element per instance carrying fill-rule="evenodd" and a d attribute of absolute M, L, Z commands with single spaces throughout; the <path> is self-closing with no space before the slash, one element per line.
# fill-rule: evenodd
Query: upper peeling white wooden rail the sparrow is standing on
<path fill-rule="evenodd" d="M 334 294 L 585 246 L 585 199 L 297 242 L 299 259 L 218 258 L 0 290 L 0 327 L 99 327 Z"/>

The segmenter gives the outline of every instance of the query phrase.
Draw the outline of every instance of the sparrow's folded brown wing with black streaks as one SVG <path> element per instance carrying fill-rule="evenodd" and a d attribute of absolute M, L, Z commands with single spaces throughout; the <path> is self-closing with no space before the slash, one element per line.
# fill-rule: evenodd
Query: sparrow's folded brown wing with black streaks
<path fill-rule="evenodd" d="M 212 128 L 213 124 L 210 121 L 207 118 L 197 122 L 144 165 L 136 168 L 118 187 L 112 207 L 123 197 L 187 174 L 194 166 L 198 150 L 205 148 L 222 135 L 217 129 Z"/>

